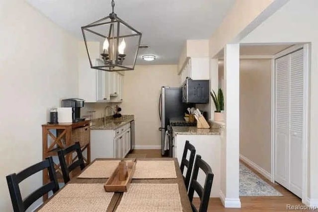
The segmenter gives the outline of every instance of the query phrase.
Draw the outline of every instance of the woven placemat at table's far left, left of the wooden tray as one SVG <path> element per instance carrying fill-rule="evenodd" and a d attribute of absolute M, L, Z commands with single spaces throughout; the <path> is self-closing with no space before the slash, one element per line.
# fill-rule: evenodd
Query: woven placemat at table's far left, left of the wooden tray
<path fill-rule="evenodd" d="M 95 160 L 78 178 L 109 178 L 120 160 Z"/>

